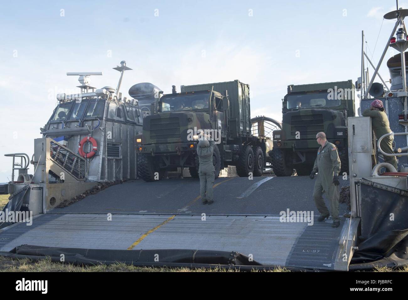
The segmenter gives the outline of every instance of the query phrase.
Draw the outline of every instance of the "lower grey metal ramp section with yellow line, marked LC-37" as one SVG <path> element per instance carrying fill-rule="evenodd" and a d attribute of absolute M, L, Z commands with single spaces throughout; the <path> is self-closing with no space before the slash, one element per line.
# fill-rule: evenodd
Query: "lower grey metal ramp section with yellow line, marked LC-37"
<path fill-rule="evenodd" d="M 347 271 L 359 219 L 283 223 L 279 216 L 47 213 L 0 231 L 0 251 L 22 244 L 89 249 L 237 251 L 268 266 Z M 350 230 L 349 230 L 350 228 Z M 343 259 L 347 254 L 346 260 Z"/>

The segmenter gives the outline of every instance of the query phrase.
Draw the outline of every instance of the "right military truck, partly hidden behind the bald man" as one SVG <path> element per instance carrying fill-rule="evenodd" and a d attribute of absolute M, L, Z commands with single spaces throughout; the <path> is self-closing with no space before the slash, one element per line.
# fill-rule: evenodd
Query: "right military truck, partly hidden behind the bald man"
<path fill-rule="evenodd" d="M 317 156 L 316 134 L 339 149 L 341 172 L 348 172 L 347 118 L 355 116 L 352 80 L 289 85 L 282 99 L 282 130 L 273 131 L 269 151 L 276 176 L 309 175 Z"/>

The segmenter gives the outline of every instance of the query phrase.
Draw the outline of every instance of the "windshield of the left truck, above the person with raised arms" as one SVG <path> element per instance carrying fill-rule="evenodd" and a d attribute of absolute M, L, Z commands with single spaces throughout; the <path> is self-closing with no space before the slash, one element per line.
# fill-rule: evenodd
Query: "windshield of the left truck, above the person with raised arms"
<path fill-rule="evenodd" d="M 210 93 L 195 93 L 189 95 L 169 95 L 160 99 L 161 111 L 188 111 L 208 109 Z"/>

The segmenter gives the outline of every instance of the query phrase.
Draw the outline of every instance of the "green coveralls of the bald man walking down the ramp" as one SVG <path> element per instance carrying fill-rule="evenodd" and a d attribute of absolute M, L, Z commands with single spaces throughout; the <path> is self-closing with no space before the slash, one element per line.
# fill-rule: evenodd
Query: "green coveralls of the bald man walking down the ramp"
<path fill-rule="evenodd" d="M 331 207 L 331 215 L 333 221 L 339 221 L 339 199 L 340 189 L 339 185 L 333 184 L 333 176 L 339 175 L 340 172 L 340 158 L 339 152 L 335 144 L 326 141 L 326 144 L 320 146 L 317 151 L 317 157 L 313 166 L 313 174 L 317 172 L 315 189 L 313 191 L 313 200 L 322 216 L 329 216 L 329 210 L 324 203 L 322 197 L 323 192 L 329 199 Z"/>

